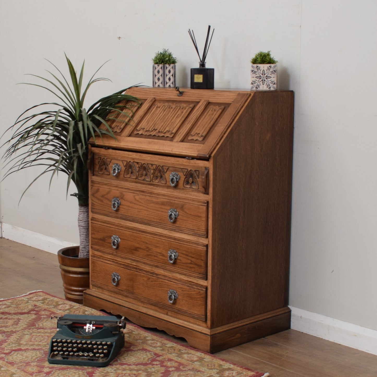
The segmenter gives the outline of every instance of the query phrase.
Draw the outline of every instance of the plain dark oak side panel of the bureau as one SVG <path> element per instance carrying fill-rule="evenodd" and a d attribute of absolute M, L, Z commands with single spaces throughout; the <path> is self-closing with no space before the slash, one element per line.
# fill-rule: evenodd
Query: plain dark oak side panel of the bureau
<path fill-rule="evenodd" d="M 293 92 L 255 92 L 212 156 L 209 322 L 288 305 Z"/>

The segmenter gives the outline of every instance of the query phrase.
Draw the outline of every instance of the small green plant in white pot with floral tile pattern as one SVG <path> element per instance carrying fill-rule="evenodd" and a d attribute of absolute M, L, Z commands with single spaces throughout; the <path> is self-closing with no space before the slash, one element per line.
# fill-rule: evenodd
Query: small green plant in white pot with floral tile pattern
<path fill-rule="evenodd" d="M 251 63 L 251 90 L 275 90 L 277 88 L 277 60 L 271 51 L 259 51 Z"/>

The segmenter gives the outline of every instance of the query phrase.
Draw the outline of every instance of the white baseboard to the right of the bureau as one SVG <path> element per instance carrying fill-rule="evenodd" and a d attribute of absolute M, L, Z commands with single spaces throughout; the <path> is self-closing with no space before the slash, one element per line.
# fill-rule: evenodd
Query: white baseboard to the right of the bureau
<path fill-rule="evenodd" d="M 377 330 L 290 307 L 291 328 L 377 355 Z"/>

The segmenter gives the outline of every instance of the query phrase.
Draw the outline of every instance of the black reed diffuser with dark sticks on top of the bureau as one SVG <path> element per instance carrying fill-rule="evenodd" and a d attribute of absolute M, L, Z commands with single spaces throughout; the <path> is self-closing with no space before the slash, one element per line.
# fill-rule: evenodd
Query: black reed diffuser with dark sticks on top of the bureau
<path fill-rule="evenodd" d="M 212 41 L 213 32 L 212 30 L 211 38 L 209 34 L 211 32 L 211 25 L 208 25 L 206 43 L 204 45 L 203 55 L 200 57 L 198 45 L 196 43 L 195 34 L 193 30 L 189 29 L 189 35 L 194 44 L 195 50 L 199 56 L 199 68 L 191 68 L 191 89 L 213 89 L 214 88 L 214 68 L 206 68 L 206 57 L 209 50 L 209 45 Z"/>

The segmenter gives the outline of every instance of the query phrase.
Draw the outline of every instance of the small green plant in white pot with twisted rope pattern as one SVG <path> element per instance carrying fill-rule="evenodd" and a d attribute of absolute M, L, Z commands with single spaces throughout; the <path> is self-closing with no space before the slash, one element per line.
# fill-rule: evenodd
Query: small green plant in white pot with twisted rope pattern
<path fill-rule="evenodd" d="M 177 58 L 167 50 L 156 52 L 153 61 L 153 87 L 175 87 Z"/>

